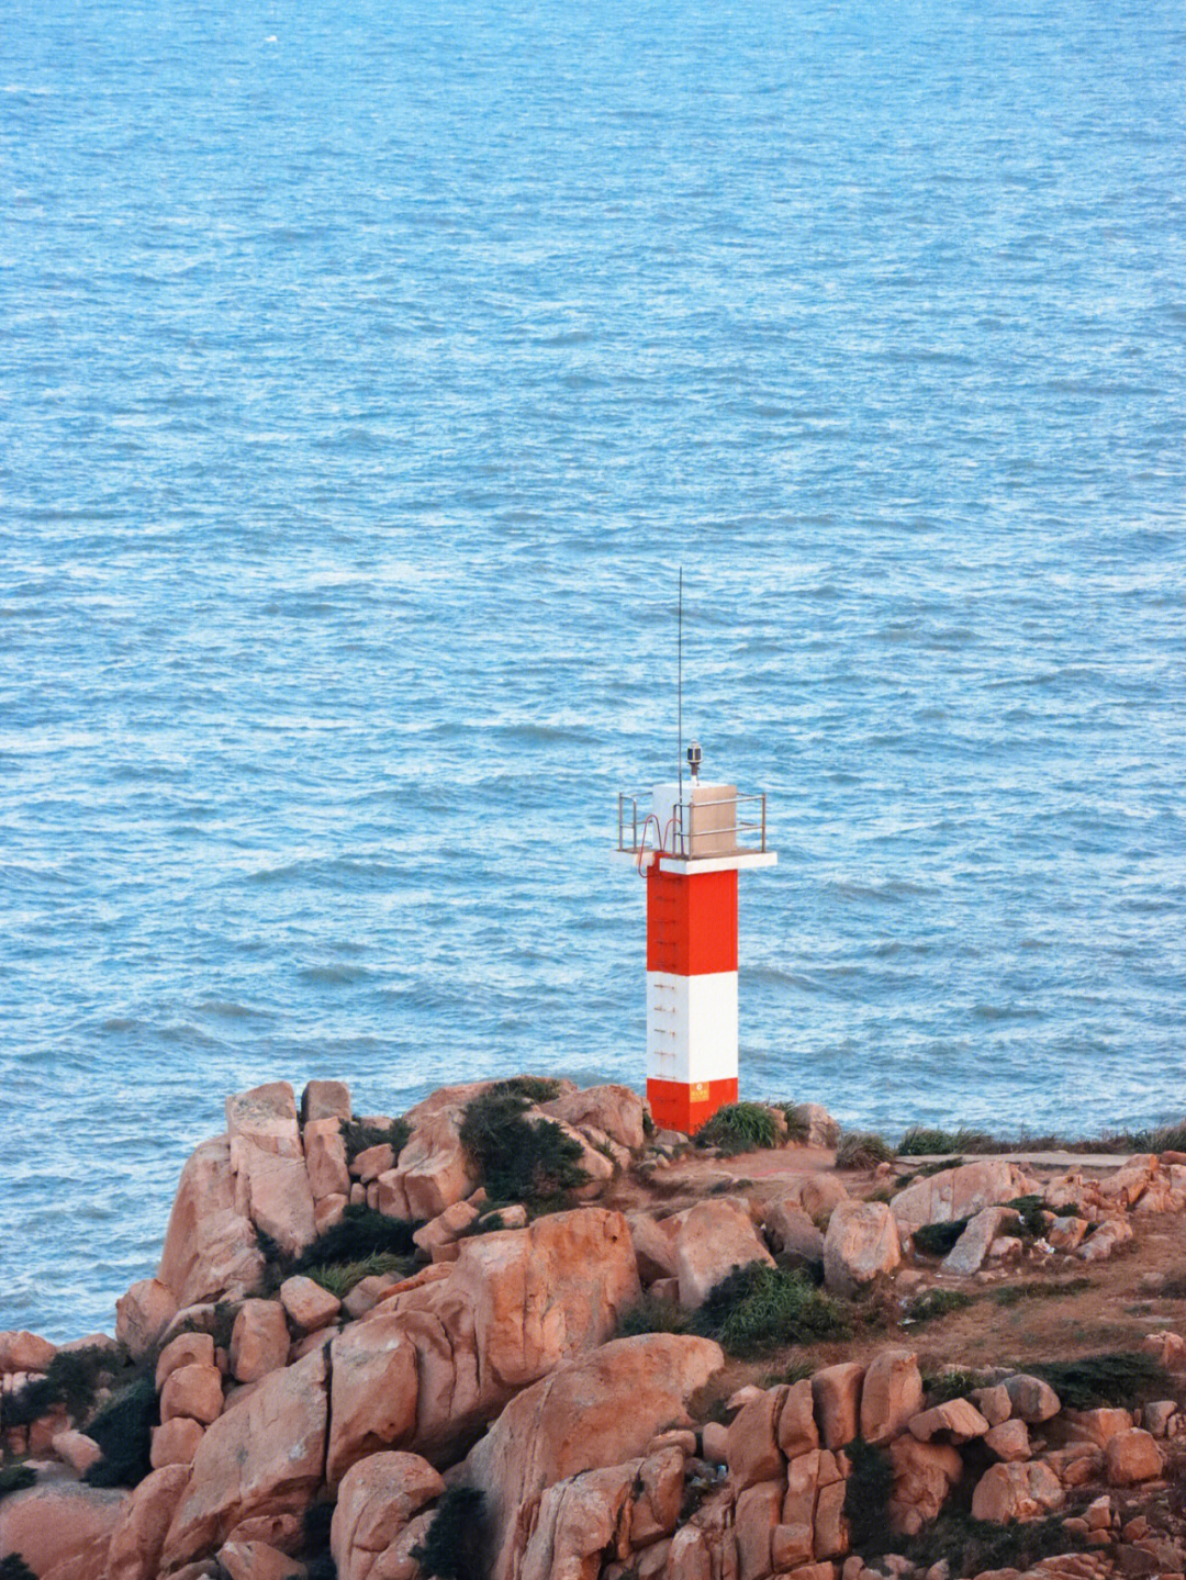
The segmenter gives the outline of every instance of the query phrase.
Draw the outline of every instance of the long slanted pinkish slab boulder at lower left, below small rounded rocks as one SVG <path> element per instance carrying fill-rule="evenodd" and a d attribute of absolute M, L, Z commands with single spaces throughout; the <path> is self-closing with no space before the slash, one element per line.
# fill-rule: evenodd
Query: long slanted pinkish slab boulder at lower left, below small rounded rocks
<path fill-rule="evenodd" d="M 327 1427 L 324 1351 L 254 1384 L 197 1446 L 164 1567 L 210 1552 L 251 1515 L 300 1512 L 325 1476 Z"/>

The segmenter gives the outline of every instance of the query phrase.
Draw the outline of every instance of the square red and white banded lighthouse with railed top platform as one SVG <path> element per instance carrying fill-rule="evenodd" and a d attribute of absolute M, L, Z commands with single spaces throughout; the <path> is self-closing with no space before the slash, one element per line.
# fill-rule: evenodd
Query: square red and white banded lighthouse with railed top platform
<path fill-rule="evenodd" d="M 766 796 L 701 765 L 693 741 L 687 779 L 617 798 L 617 852 L 646 878 L 646 1097 L 685 1134 L 737 1101 L 737 874 L 777 861 Z"/>

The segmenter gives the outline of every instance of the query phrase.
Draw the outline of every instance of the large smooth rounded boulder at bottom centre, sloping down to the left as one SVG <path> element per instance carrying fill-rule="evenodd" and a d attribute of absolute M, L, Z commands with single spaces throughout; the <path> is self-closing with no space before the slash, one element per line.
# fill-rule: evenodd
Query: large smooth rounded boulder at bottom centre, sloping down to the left
<path fill-rule="evenodd" d="M 548 1487 L 640 1457 L 655 1433 L 685 1419 L 690 1395 L 722 1364 L 706 1338 L 646 1334 L 613 1340 L 520 1394 L 460 1473 L 486 1498 L 490 1580 L 518 1575 Z"/>

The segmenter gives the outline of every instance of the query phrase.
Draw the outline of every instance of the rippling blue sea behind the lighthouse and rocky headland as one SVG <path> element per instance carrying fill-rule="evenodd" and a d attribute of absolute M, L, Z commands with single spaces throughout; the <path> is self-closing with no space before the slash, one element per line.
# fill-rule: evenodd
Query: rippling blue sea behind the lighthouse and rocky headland
<path fill-rule="evenodd" d="M 681 564 L 744 1095 L 1186 1112 L 1177 0 L 9 0 L 0 153 L 0 1327 L 229 1090 L 641 1084 Z"/>

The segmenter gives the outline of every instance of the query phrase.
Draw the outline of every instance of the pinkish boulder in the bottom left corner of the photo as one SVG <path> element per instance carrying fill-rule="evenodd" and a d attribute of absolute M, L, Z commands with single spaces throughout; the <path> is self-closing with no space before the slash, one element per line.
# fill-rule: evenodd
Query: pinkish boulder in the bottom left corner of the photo
<path fill-rule="evenodd" d="M 16 1553 L 38 1580 L 104 1580 L 128 1493 L 44 1482 L 0 1504 L 0 1558 Z"/>

